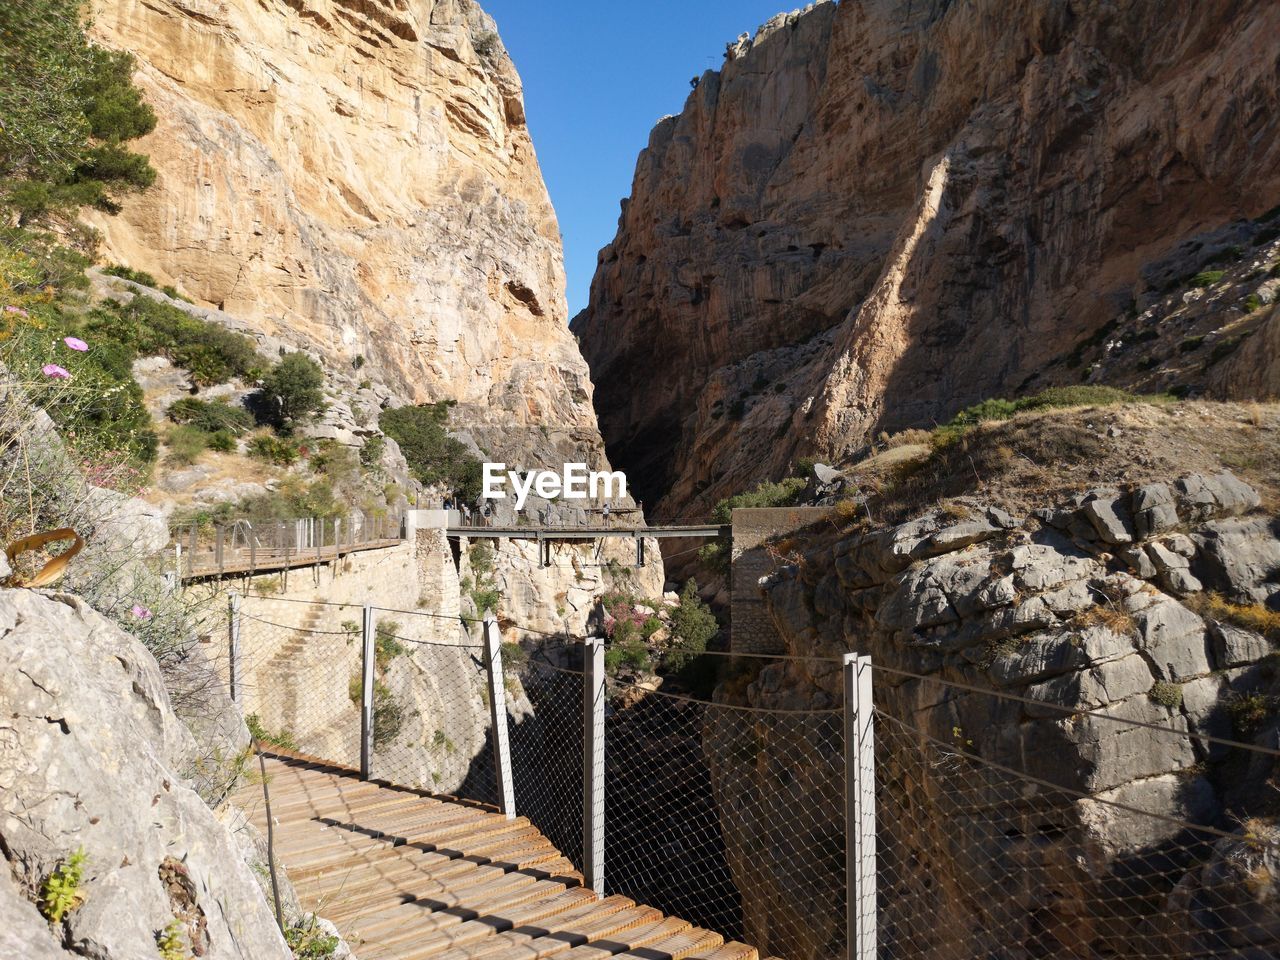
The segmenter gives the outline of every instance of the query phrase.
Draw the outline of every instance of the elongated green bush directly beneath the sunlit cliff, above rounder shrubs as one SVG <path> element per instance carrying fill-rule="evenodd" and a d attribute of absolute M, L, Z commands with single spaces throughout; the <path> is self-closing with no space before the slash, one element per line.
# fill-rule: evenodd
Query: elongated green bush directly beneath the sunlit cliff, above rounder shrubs
<path fill-rule="evenodd" d="M 248 337 L 150 297 L 104 303 L 90 314 L 86 330 L 86 338 L 114 340 L 137 356 L 166 357 L 189 370 L 202 387 L 227 383 L 234 376 L 253 380 L 261 371 Z"/>

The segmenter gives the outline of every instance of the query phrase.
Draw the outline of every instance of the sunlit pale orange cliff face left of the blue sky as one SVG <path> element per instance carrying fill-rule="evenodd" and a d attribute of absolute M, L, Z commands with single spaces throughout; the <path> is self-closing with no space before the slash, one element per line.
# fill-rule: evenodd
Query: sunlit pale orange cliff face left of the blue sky
<path fill-rule="evenodd" d="M 93 13 L 159 116 L 138 143 L 155 187 L 95 219 L 106 259 L 403 397 L 458 401 L 494 453 L 554 454 L 539 428 L 599 451 L 520 78 L 475 3 Z"/>

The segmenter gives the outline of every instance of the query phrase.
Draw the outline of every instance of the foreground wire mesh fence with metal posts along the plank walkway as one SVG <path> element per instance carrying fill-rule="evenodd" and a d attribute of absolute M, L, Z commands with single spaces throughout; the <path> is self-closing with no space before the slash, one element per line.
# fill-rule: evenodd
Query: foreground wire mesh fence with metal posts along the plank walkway
<path fill-rule="evenodd" d="M 1280 945 L 1280 750 L 1146 700 L 1056 707 L 858 654 L 707 652 L 657 681 L 603 639 L 282 598 L 233 600 L 228 640 L 264 742 L 518 813 L 598 893 L 760 956 Z M 1176 773 L 1100 781 L 1117 755 Z M 1235 772 L 1235 820 L 1206 764 Z"/>

